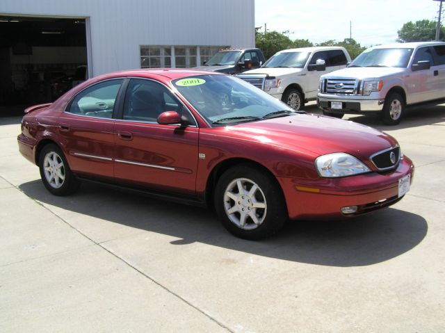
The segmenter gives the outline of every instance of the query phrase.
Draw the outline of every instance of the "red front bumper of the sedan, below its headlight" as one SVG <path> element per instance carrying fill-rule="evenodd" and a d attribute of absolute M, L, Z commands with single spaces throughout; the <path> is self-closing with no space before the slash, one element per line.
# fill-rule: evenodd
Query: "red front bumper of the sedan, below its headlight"
<path fill-rule="evenodd" d="M 331 220 L 360 216 L 391 206 L 401 200 L 398 180 L 414 175 L 414 165 L 406 156 L 396 170 L 369 172 L 343 178 L 304 181 L 279 177 L 284 190 L 289 218 L 292 220 Z M 343 207 L 357 206 L 357 212 L 341 213 Z"/>

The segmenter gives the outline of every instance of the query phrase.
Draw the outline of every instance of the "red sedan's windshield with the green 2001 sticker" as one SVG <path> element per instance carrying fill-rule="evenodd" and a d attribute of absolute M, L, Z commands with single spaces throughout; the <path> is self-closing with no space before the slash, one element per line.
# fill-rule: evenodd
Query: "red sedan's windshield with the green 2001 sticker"
<path fill-rule="evenodd" d="M 199 75 L 172 83 L 213 127 L 294 114 L 282 101 L 234 76 Z"/>

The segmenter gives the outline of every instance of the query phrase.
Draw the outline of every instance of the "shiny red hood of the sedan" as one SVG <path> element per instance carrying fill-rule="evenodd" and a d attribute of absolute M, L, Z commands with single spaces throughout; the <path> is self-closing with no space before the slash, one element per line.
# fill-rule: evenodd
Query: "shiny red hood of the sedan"
<path fill-rule="evenodd" d="M 232 137 L 257 140 L 280 147 L 312 152 L 314 156 L 346 152 L 369 159 L 371 154 L 397 144 L 391 136 L 371 127 L 322 115 L 300 114 L 225 128 Z"/>

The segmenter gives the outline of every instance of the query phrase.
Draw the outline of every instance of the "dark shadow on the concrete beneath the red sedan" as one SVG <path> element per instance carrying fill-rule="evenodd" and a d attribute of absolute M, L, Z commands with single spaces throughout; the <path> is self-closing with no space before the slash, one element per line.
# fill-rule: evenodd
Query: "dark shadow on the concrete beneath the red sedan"
<path fill-rule="evenodd" d="M 34 200 L 54 206 L 49 209 L 64 209 L 106 222 L 173 236 L 178 238 L 170 241 L 173 245 L 200 242 L 264 257 L 324 266 L 366 266 L 387 261 L 421 243 L 428 232 L 428 224 L 421 216 L 389 208 L 343 222 L 290 221 L 282 232 L 272 238 L 245 241 L 226 232 L 208 209 L 154 200 L 145 195 L 90 183 L 83 183 L 79 192 L 69 197 L 51 195 L 40 180 L 22 184 L 19 188 Z M 62 218 L 65 215 L 72 216 L 58 212 Z M 67 222 L 70 223 L 69 217 Z"/>

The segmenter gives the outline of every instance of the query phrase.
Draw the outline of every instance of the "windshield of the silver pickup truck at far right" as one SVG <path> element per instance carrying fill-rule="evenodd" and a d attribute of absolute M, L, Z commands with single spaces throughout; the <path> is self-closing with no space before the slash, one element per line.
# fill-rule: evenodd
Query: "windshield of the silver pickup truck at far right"
<path fill-rule="evenodd" d="M 348 67 L 407 67 L 413 49 L 366 49 Z"/>

